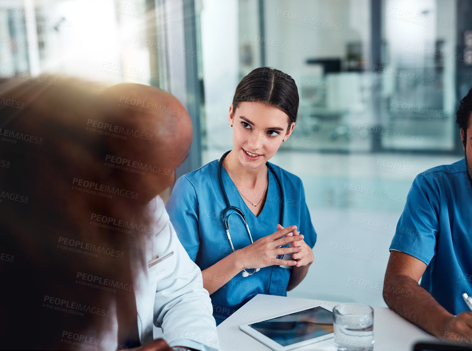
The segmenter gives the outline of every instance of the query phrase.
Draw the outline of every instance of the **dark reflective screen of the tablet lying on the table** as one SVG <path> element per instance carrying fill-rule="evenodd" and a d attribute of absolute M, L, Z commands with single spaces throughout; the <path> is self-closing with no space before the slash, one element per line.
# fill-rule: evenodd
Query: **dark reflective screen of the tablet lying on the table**
<path fill-rule="evenodd" d="M 287 346 L 333 333 L 333 312 L 323 307 L 313 307 L 249 326 Z"/>

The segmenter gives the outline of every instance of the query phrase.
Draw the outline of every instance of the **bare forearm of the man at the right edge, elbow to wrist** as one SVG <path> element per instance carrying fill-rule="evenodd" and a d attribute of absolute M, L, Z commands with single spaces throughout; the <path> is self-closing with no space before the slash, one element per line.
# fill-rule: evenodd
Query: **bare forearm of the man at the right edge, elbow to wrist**
<path fill-rule="evenodd" d="M 405 275 L 384 282 L 383 298 L 390 309 L 438 337 L 444 337 L 444 326 L 453 317 L 428 291 Z"/>

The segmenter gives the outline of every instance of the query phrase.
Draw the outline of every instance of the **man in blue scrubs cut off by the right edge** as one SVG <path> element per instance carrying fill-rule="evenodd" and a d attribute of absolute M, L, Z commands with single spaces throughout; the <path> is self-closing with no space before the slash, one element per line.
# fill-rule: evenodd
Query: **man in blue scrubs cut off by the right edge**
<path fill-rule="evenodd" d="M 465 158 L 431 168 L 408 193 L 390 246 L 383 297 L 388 307 L 440 338 L 472 342 L 472 89 L 457 124 Z M 421 279 L 421 284 L 418 281 Z"/>

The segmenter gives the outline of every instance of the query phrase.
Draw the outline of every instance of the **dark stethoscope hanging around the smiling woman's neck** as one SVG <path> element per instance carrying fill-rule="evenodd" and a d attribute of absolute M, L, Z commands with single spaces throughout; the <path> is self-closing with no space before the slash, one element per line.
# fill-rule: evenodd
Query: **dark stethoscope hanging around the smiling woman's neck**
<path fill-rule="evenodd" d="M 233 250 L 233 252 L 235 252 L 235 248 L 233 246 L 233 242 L 231 241 L 231 235 L 229 234 L 229 217 L 232 215 L 232 214 L 236 214 L 238 215 L 239 217 L 241 217 L 241 219 L 243 219 L 243 222 L 244 222 L 244 227 L 246 227 L 246 232 L 247 232 L 247 235 L 249 236 L 249 240 L 251 241 L 251 244 L 253 244 L 253 237 L 251 236 L 251 231 L 249 230 L 249 226 L 247 225 L 247 220 L 246 220 L 246 216 L 244 216 L 244 213 L 243 211 L 241 211 L 241 209 L 237 208 L 236 206 L 231 206 L 230 203 L 229 203 L 229 200 L 228 200 L 228 195 L 226 194 L 226 190 L 225 190 L 225 186 L 223 185 L 223 176 L 221 175 L 221 168 L 223 166 L 223 160 L 225 159 L 225 157 L 228 155 L 228 153 L 230 152 L 231 150 L 227 151 L 223 156 L 221 156 L 221 158 L 219 159 L 219 164 L 218 164 L 218 176 L 219 176 L 219 185 L 221 186 L 221 190 L 223 191 L 223 196 L 225 197 L 225 202 L 226 204 L 228 205 L 227 208 L 225 208 L 223 210 L 223 216 L 222 216 L 222 219 L 223 219 L 223 224 L 225 225 L 225 229 L 226 229 L 226 236 L 228 237 L 228 241 L 229 241 L 229 245 L 231 246 L 231 250 Z M 279 223 L 281 226 L 283 226 L 282 222 L 284 220 L 284 203 L 283 203 L 283 199 L 284 199 L 284 190 L 282 189 L 282 184 L 280 183 L 280 179 L 277 175 L 277 173 L 275 173 L 274 171 L 274 168 L 270 165 L 269 162 L 266 162 L 266 166 L 267 168 L 270 169 L 270 171 L 272 171 L 272 173 L 274 174 L 274 177 L 275 177 L 275 180 L 277 181 L 277 184 L 278 184 L 278 188 L 280 190 L 280 199 L 282 201 L 282 210 L 280 211 L 280 218 L 279 218 Z M 231 212 L 230 214 L 228 214 L 228 211 L 230 210 L 233 210 L 233 211 L 236 211 L 236 212 Z M 260 268 L 254 268 L 252 272 L 247 272 L 245 269 L 244 269 L 244 272 L 243 272 L 243 277 L 247 277 L 249 275 L 253 275 L 255 272 L 259 271 Z"/>

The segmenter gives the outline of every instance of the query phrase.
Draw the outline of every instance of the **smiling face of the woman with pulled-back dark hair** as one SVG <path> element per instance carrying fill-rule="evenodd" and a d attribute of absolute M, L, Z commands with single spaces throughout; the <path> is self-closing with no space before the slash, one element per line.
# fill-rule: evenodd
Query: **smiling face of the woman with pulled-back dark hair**
<path fill-rule="evenodd" d="M 285 112 L 258 101 L 240 103 L 234 116 L 231 105 L 228 120 L 233 125 L 234 156 L 248 168 L 257 168 L 274 156 L 295 126 L 292 122 L 287 129 Z"/>

